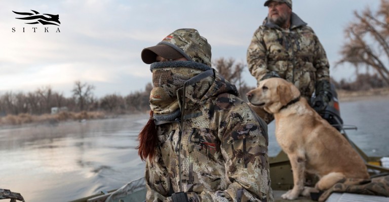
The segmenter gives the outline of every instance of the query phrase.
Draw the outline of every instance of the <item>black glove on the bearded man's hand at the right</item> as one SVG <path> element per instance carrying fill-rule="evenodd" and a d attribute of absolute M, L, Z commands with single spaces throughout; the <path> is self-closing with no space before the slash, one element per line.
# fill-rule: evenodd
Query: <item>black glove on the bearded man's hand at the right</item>
<path fill-rule="evenodd" d="M 318 113 L 325 110 L 331 101 L 331 85 L 328 81 L 319 81 L 316 84 L 316 97 L 312 100 L 312 108 Z"/>

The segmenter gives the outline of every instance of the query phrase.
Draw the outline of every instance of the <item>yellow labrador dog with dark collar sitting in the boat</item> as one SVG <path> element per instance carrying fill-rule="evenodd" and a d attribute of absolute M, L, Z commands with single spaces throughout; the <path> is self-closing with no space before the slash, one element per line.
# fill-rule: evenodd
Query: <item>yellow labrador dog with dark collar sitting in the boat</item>
<path fill-rule="evenodd" d="M 274 114 L 276 139 L 289 157 L 294 185 L 282 198 L 309 195 L 312 188 L 304 188 L 305 172 L 319 176 L 315 186 L 319 190 L 344 178 L 369 179 L 364 161 L 351 144 L 300 97 L 292 83 L 265 79 L 247 96 L 249 105 Z"/>

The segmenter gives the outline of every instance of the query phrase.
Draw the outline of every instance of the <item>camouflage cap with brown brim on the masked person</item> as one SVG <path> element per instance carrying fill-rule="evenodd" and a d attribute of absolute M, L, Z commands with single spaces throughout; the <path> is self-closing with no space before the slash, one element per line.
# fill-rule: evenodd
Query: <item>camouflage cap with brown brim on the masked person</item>
<path fill-rule="evenodd" d="M 206 38 L 200 36 L 196 29 L 177 29 L 157 45 L 144 48 L 141 54 L 146 64 L 155 62 L 157 55 L 167 59 L 185 57 L 188 61 L 203 63 L 211 67 L 211 45 Z"/>

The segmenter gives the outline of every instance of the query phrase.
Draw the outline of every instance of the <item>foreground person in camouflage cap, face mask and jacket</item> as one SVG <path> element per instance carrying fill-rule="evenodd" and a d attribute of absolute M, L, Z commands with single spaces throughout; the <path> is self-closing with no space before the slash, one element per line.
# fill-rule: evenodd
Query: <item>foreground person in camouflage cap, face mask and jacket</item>
<path fill-rule="evenodd" d="M 155 155 L 146 159 L 146 200 L 174 201 L 181 194 L 179 201 L 274 201 L 267 126 L 211 68 L 207 40 L 195 29 L 179 29 L 161 44 L 187 61 L 155 62 L 149 51 L 158 48 L 142 52 L 153 73 L 150 107 L 158 135 Z"/>

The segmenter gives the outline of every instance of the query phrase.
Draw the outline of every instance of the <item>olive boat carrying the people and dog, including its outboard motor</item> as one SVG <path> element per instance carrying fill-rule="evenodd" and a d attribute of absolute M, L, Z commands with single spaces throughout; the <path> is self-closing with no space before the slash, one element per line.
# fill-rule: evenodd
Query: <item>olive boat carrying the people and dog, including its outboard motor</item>
<path fill-rule="evenodd" d="M 371 179 L 382 176 L 389 176 L 389 158 L 383 157 L 368 157 L 362 149 L 360 149 L 351 139 L 348 138 L 346 130 L 357 129 L 356 126 L 344 125 L 342 119 L 340 118 L 339 103 L 337 99 L 337 94 L 335 86 L 331 86 L 333 92 L 333 98 L 330 104 L 326 107 L 320 115 L 326 119 L 333 127 L 335 127 L 353 146 L 353 148 L 358 152 L 365 162 L 366 167 L 368 168 Z M 285 200 L 281 198 L 281 195 L 286 193 L 289 189 L 293 188 L 293 176 L 292 168 L 288 156 L 284 151 L 276 157 L 269 157 L 269 168 L 270 168 L 270 179 L 271 179 L 271 188 L 273 189 L 274 198 L 276 202 L 286 202 L 286 201 L 295 201 L 295 202 L 312 202 L 317 201 L 320 196 L 320 193 L 311 193 L 310 197 L 300 196 L 296 200 Z M 386 178 L 385 178 L 386 179 Z M 307 186 L 314 186 L 319 178 L 315 176 L 306 176 L 305 184 Z M 388 178 L 389 183 L 389 178 Z M 389 190 L 388 190 L 389 191 Z M 140 178 L 133 180 L 123 187 L 112 190 L 109 192 L 103 192 L 100 194 L 88 196 L 85 198 L 80 198 L 73 200 L 71 202 L 143 202 L 145 201 L 146 196 L 146 185 L 145 179 Z M 389 195 L 388 195 L 389 196 Z M 389 197 L 377 196 L 377 195 L 364 195 L 358 193 L 336 193 L 333 192 L 327 197 L 326 202 L 355 202 L 355 201 L 369 201 L 369 202 L 389 202 Z"/>

